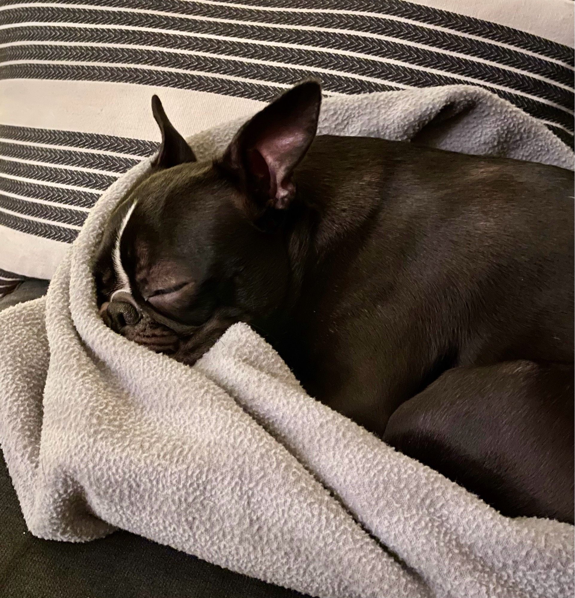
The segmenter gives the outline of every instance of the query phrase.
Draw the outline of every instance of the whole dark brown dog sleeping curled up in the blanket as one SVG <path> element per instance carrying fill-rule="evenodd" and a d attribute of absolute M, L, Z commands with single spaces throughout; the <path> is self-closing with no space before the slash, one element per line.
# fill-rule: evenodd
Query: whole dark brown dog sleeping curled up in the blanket
<path fill-rule="evenodd" d="M 311 396 L 509 516 L 573 523 L 573 173 L 316 136 L 319 84 L 162 144 L 95 264 L 106 324 L 193 364 L 235 322 Z"/>

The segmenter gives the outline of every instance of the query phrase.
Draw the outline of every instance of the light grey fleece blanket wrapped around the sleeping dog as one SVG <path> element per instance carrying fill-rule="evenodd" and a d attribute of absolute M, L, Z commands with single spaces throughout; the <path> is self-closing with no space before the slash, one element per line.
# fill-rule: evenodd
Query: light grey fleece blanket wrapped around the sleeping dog
<path fill-rule="evenodd" d="M 213 155 L 237 126 L 191 145 Z M 320 133 L 573 167 L 542 124 L 477 87 L 332 97 Z M 397 453 L 306 395 L 247 325 L 192 368 L 105 327 L 91 258 L 149 163 L 103 194 L 47 297 L 0 316 L 0 441 L 30 532 L 126 529 L 325 598 L 573 596 L 572 526 L 503 517 Z"/>

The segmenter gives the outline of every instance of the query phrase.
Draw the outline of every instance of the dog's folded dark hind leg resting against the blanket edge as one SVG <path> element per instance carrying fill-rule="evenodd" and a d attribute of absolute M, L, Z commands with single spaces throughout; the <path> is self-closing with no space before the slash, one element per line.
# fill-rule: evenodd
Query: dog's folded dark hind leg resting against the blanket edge
<path fill-rule="evenodd" d="M 453 368 L 394 411 L 383 440 L 504 515 L 573 523 L 573 366 Z"/>

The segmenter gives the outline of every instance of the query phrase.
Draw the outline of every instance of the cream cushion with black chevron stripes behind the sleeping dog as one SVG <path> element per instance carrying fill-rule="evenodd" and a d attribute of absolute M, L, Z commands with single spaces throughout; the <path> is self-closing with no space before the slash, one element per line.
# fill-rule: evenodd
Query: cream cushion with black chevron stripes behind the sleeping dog
<path fill-rule="evenodd" d="M 306 77 L 327 95 L 478 85 L 573 145 L 573 49 L 509 26 L 402 0 L 2 0 L 4 277 L 49 277 L 154 152 L 152 93 L 190 135 Z"/>

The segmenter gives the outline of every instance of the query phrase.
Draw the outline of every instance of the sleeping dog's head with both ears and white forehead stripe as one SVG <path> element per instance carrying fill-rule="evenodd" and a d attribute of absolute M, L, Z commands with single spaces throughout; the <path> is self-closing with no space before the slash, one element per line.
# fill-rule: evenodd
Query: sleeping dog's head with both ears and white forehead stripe
<path fill-rule="evenodd" d="M 292 173 L 313 141 L 321 93 L 301 84 L 198 162 L 154 96 L 162 145 L 152 173 L 113 213 L 94 268 L 102 318 L 152 350 L 193 363 L 238 321 L 290 291 Z"/>

